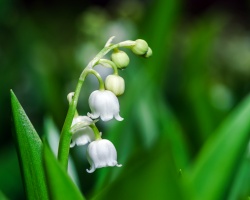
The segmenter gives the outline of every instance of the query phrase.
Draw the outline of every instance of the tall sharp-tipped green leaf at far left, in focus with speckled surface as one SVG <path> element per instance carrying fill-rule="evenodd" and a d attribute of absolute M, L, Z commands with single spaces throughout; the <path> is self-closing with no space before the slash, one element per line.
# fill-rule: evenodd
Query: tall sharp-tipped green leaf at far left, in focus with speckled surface
<path fill-rule="evenodd" d="M 42 141 L 13 91 L 10 92 L 19 163 L 28 199 L 48 199 L 42 164 Z"/>

